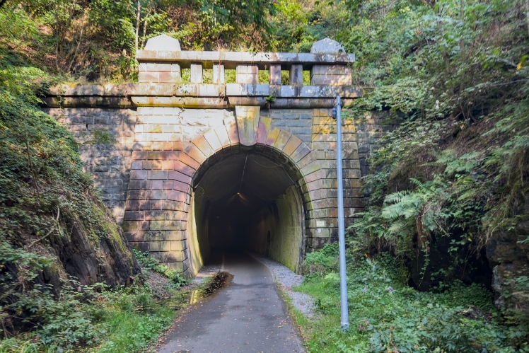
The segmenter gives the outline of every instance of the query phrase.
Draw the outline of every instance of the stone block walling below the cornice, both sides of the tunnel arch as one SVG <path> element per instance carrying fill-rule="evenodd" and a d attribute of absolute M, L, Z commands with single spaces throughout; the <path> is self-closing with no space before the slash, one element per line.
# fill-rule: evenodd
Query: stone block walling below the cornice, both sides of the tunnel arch
<path fill-rule="evenodd" d="M 46 111 L 81 143 L 83 166 L 93 175 L 132 245 L 171 268 L 187 270 L 192 178 L 214 152 L 239 144 L 234 111 L 148 107 Z M 337 239 L 336 122 L 331 113 L 331 109 L 263 109 L 260 113 L 270 121 L 266 144 L 290 154 L 300 168 L 293 173 L 301 175 L 306 251 Z M 342 132 L 345 221 L 349 224 L 354 214 L 363 211 L 364 199 L 355 126 L 347 122 Z"/>

